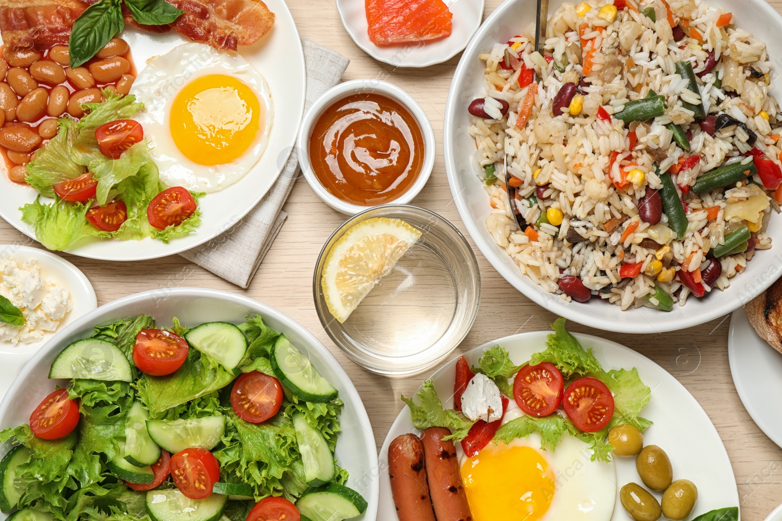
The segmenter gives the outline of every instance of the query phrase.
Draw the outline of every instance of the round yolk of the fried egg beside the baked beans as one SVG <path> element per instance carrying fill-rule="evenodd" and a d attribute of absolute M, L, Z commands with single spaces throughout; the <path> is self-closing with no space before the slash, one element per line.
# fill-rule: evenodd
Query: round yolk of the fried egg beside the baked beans
<path fill-rule="evenodd" d="M 210 74 L 185 85 L 170 109 L 170 130 L 180 152 L 200 165 L 221 165 L 253 145 L 261 106 L 242 81 Z"/>

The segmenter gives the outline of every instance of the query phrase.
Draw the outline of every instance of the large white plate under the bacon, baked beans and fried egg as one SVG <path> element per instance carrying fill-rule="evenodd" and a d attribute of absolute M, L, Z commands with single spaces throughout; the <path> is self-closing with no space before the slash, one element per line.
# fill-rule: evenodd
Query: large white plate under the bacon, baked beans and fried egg
<path fill-rule="evenodd" d="M 169 244 L 150 238 L 143 241 L 85 239 L 70 248 L 69 253 L 90 259 L 135 261 L 184 252 L 239 223 L 271 188 L 296 142 L 304 111 L 306 78 L 301 40 L 288 5 L 285 0 L 266 3 L 274 12 L 274 27 L 255 45 L 239 48 L 239 53 L 264 75 L 274 104 L 269 145 L 253 169 L 236 184 L 201 199 L 201 224 L 186 237 L 174 239 Z M 133 61 L 139 71 L 152 56 L 162 55 L 190 41 L 174 31 L 156 34 L 131 27 L 123 31 L 122 37 L 131 45 Z M 23 234 L 35 238 L 32 228 L 22 222 L 19 208 L 33 202 L 37 192 L 7 179 L 0 179 L 0 184 L 0 216 Z"/>

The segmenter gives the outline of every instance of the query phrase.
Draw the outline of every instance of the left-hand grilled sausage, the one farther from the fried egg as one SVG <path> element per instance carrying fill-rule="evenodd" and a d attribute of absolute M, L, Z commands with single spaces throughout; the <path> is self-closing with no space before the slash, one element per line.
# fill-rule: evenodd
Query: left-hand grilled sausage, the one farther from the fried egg
<path fill-rule="evenodd" d="M 435 521 L 426 484 L 424 447 L 415 434 L 397 436 L 389 445 L 389 478 L 399 521 Z"/>

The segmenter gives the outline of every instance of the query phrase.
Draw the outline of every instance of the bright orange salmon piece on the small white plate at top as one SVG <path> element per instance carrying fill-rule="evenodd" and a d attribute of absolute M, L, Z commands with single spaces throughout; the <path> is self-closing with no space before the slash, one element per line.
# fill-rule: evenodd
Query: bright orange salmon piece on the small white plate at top
<path fill-rule="evenodd" d="M 450 36 L 452 14 L 443 0 L 364 0 L 369 39 L 375 45 Z"/>

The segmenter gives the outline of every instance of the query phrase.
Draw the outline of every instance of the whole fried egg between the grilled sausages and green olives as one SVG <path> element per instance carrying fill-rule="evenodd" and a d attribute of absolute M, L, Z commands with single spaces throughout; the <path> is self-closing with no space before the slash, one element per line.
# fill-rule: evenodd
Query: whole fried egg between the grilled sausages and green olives
<path fill-rule="evenodd" d="M 508 413 L 506 422 L 523 414 Z M 540 448 L 537 433 L 492 441 L 462 456 L 461 481 L 474 521 L 608 521 L 616 501 L 614 463 L 590 461 L 587 445 L 568 434 L 554 451 Z"/>

